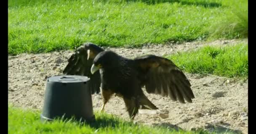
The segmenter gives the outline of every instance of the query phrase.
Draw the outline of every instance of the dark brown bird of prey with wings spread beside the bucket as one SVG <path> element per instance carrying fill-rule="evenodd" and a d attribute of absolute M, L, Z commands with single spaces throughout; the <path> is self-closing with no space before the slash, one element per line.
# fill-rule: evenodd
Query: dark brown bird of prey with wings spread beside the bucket
<path fill-rule="evenodd" d="M 192 103 L 191 84 L 171 60 L 155 55 L 128 59 L 93 43 L 80 46 L 68 60 L 64 74 L 90 77 L 91 93 L 103 97 L 101 111 L 113 94 L 123 98 L 130 119 L 142 109 L 158 109 L 144 94 L 159 94 L 172 101 Z"/>

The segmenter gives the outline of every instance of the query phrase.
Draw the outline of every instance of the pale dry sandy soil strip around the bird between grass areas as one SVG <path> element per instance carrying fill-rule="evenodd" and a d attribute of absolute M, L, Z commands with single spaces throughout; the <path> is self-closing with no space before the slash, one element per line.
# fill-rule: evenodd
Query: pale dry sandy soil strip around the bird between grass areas
<path fill-rule="evenodd" d="M 125 57 L 134 58 L 143 54 L 163 56 L 179 51 L 188 51 L 205 45 L 232 45 L 246 40 L 214 42 L 188 42 L 183 44 L 145 45 L 141 48 L 111 49 Z M 72 51 L 47 54 L 20 54 L 8 57 L 8 101 L 14 106 L 39 108 L 43 106 L 45 80 L 48 76 L 60 75 L 67 65 Z M 219 132 L 231 130 L 248 133 L 248 80 L 233 80 L 213 75 L 187 74 L 195 93 L 193 103 L 181 104 L 160 95 L 147 94 L 160 111 L 140 110 L 135 120 L 148 125 L 176 127 L 186 130 L 213 128 Z M 93 110 L 102 105 L 101 95 L 93 95 Z M 113 96 L 105 112 L 128 120 L 122 99 Z"/>

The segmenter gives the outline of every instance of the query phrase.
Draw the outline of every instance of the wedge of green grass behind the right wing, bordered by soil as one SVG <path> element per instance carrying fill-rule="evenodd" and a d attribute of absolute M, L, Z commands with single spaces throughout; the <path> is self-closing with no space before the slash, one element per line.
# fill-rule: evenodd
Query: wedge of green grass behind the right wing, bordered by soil
<path fill-rule="evenodd" d="M 231 78 L 248 77 L 248 44 L 205 46 L 191 52 L 168 56 L 181 70 Z"/>

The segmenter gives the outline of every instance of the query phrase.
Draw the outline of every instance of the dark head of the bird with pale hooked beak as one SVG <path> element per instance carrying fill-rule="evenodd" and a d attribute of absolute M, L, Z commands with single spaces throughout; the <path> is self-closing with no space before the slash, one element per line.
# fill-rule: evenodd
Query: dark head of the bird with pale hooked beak
<path fill-rule="evenodd" d="M 101 68 L 113 69 L 117 66 L 119 56 L 110 50 L 100 52 L 94 59 L 91 66 L 91 73 L 98 71 Z"/>

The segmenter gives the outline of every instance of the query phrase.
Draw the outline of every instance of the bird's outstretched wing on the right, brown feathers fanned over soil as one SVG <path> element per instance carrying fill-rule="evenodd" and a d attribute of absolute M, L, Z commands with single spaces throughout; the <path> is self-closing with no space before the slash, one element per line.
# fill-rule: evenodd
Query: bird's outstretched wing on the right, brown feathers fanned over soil
<path fill-rule="evenodd" d="M 192 103 L 195 98 L 191 84 L 184 73 L 169 59 L 146 55 L 134 59 L 138 67 L 141 86 L 147 93 L 170 97 L 173 101 Z"/>

